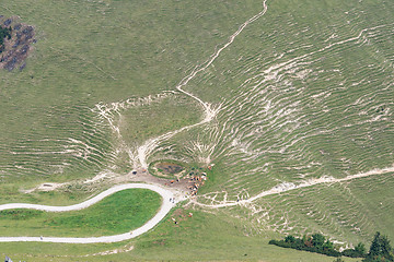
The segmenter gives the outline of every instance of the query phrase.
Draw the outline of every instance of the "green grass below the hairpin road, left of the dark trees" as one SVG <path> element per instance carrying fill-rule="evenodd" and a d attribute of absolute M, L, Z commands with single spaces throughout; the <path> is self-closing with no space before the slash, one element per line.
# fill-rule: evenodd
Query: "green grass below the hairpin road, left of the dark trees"
<path fill-rule="evenodd" d="M 193 217 L 187 214 L 192 212 Z M 185 217 L 186 216 L 186 217 Z M 175 225 L 172 217 L 179 223 Z M 268 245 L 273 233 L 259 235 L 221 211 L 209 214 L 194 209 L 175 209 L 151 233 L 131 241 L 107 245 L 0 243 L 1 252 L 18 260 L 40 261 L 304 261 L 332 262 L 334 258 Z M 92 255 L 115 249 L 131 251 Z M 23 250 L 23 251 L 21 251 Z M 45 255 L 43 255 L 45 254 Z M 90 254 L 90 255 L 89 255 Z M 345 261 L 357 261 L 345 258 Z"/>

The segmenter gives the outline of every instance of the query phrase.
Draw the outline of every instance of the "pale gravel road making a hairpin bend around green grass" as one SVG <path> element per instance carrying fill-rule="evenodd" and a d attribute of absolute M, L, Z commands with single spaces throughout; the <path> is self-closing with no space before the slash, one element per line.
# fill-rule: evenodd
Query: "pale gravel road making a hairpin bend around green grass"
<path fill-rule="evenodd" d="M 174 193 L 170 190 L 163 189 L 158 186 L 147 184 L 147 183 L 126 183 L 120 186 L 115 186 L 96 196 L 86 200 L 80 204 L 69 205 L 69 206 L 50 206 L 50 205 L 38 205 L 38 204 L 25 204 L 25 203 L 12 203 L 0 205 L 0 211 L 3 210 L 14 210 L 14 209 L 31 209 L 31 210 L 40 210 L 47 212 L 66 212 L 66 211 L 77 211 L 82 210 L 88 206 L 91 206 L 94 203 L 103 200 L 104 198 L 126 189 L 149 189 L 159 193 L 162 199 L 162 205 L 159 212 L 150 221 L 148 221 L 143 226 L 120 235 L 114 236 L 103 236 L 103 237 L 86 237 L 86 238 L 76 238 L 76 237 L 0 237 L 0 242 L 19 242 L 19 241 L 37 241 L 37 242 L 62 242 L 62 243 L 97 243 L 97 242 L 118 242 L 127 239 L 138 237 L 148 230 L 152 229 L 158 225 L 166 214 L 171 211 L 172 207 L 176 205 L 181 196 L 177 196 L 175 202 L 170 202 L 170 199 L 175 198 Z M 184 198 L 184 196 L 183 196 Z"/>

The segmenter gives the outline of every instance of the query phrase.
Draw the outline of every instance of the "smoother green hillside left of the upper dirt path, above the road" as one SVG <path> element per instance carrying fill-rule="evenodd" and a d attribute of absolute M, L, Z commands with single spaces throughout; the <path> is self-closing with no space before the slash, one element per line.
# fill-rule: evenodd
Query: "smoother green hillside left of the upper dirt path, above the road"
<path fill-rule="evenodd" d="M 0 176 L 4 182 L 56 181 L 121 169 L 127 160 L 114 153 L 121 142 L 95 106 L 175 91 L 228 31 L 254 13 L 254 1 L 215 9 L 193 1 L 12 1 L 0 10 L 33 25 L 37 38 L 24 71 L 0 72 Z M 126 111 L 127 146 L 140 142 L 137 135 L 200 119 L 196 103 L 185 98 L 142 109 L 143 117 Z"/>

